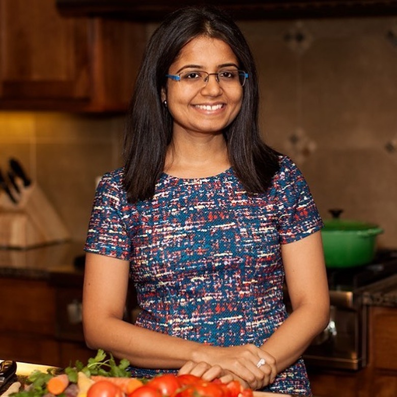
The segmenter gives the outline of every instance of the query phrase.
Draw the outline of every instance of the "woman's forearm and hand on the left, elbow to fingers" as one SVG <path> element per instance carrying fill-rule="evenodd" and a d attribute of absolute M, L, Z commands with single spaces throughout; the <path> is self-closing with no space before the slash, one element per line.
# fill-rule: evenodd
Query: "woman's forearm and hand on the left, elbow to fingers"
<path fill-rule="evenodd" d="M 264 353 L 254 345 L 209 346 L 138 327 L 118 316 L 91 316 L 90 312 L 84 316 L 84 335 L 91 348 L 102 348 L 139 367 L 179 369 L 188 361 L 204 362 L 220 368 L 222 375 L 235 373 L 252 388 L 263 387 L 273 376 L 256 366 Z"/>

